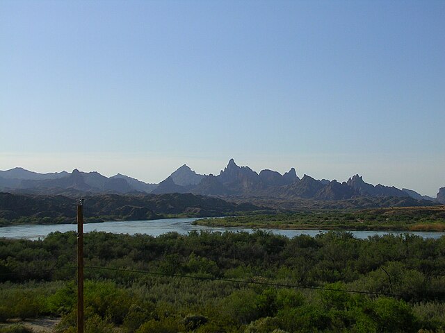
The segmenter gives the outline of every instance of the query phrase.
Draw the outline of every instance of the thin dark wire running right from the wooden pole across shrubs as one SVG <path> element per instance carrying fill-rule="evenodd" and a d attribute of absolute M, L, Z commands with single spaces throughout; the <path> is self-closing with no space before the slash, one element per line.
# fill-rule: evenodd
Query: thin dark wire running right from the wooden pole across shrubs
<path fill-rule="evenodd" d="M 169 277 L 172 277 L 172 278 L 189 278 L 189 279 L 195 279 L 195 280 L 211 280 L 211 281 L 223 281 L 223 282 L 243 283 L 243 284 L 260 284 L 260 285 L 272 286 L 272 287 L 297 288 L 297 289 L 316 289 L 316 290 L 325 290 L 325 291 L 343 291 L 345 293 L 364 293 L 364 294 L 379 295 L 379 296 L 402 297 L 401 295 L 398 295 L 396 293 L 378 293 L 376 291 L 360 291 L 360 290 L 350 290 L 350 289 L 334 289 L 334 288 L 307 286 L 307 285 L 302 285 L 302 284 L 280 284 L 280 283 L 273 283 L 273 282 L 260 282 L 260 281 L 254 281 L 254 280 L 252 280 L 252 281 L 245 281 L 245 280 L 230 280 L 230 279 L 223 279 L 223 278 L 206 278 L 206 277 L 195 276 L 195 275 L 155 273 L 155 272 L 149 272 L 149 271 L 138 271 L 138 270 L 133 270 L 133 269 L 120 269 L 120 268 L 99 267 L 99 266 L 84 266 L 84 268 L 102 269 L 102 270 L 105 270 L 105 271 L 118 271 L 118 272 L 127 272 L 127 273 L 140 273 L 140 274 L 147 274 L 147 275 L 169 276 Z"/>

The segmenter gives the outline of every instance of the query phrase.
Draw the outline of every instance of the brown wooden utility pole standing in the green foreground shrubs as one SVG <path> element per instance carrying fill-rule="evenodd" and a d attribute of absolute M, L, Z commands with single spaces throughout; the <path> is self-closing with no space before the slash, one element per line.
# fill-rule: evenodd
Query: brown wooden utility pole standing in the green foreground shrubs
<path fill-rule="evenodd" d="M 83 201 L 77 204 L 77 333 L 83 333 Z"/>

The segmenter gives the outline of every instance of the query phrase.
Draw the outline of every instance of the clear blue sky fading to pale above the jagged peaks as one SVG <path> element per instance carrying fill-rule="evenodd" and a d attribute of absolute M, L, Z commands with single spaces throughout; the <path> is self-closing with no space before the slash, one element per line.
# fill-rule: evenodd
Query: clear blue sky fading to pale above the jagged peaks
<path fill-rule="evenodd" d="M 445 186 L 445 1 L 0 1 L 0 170 Z"/>

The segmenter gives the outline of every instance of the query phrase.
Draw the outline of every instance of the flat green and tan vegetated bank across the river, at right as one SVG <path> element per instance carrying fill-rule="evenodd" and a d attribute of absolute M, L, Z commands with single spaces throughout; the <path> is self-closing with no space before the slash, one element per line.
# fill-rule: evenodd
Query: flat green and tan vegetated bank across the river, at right
<path fill-rule="evenodd" d="M 199 219 L 193 225 L 282 230 L 445 232 L 445 206 L 229 216 Z"/>

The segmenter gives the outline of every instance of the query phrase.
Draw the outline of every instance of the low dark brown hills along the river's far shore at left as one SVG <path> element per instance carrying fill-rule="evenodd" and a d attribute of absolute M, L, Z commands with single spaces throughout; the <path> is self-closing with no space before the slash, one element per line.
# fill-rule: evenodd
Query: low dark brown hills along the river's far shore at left
<path fill-rule="evenodd" d="M 86 221 L 149 220 L 171 214 L 225 216 L 263 210 L 249 203 L 229 203 L 194 194 L 117 194 L 86 196 Z M 71 223 L 76 218 L 76 200 L 66 196 L 31 196 L 0 193 L 0 223 Z"/>

